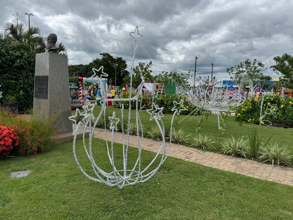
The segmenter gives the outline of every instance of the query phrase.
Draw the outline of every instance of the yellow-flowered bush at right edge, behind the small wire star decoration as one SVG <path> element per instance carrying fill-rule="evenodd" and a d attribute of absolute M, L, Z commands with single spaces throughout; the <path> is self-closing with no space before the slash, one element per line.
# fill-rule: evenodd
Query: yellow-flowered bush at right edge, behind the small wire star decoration
<path fill-rule="evenodd" d="M 264 120 L 269 120 L 273 125 L 289 125 L 293 126 L 293 98 L 291 96 L 285 96 L 283 100 L 278 94 L 274 94 L 273 97 L 264 96 L 263 113 L 267 106 L 277 104 L 273 109 L 276 112 L 276 117 L 273 114 L 265 116 Z M 236 110 L 235 118 L 237 121 L 246 123 L 260 122 L 260 100 L 255 100 L 254 97 L 246 99 Z"/>

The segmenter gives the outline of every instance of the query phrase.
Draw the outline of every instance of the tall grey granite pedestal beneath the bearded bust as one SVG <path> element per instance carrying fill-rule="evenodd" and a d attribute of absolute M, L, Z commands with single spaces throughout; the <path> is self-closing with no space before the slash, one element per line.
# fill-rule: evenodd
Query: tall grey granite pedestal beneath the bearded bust
<path fill-rule="evenodd" d="M 67 56 L 36 54 L 33 114 L 43 119 L 54 115 L 57 133 L 72 132 L 70 100 Z"/>

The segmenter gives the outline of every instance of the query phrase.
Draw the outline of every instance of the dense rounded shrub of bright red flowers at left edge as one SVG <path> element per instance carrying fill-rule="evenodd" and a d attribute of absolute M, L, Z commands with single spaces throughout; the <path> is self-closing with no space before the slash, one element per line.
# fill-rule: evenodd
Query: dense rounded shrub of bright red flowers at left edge
<path fill-rule="evenodd" d="M 9 154 L 18 145 L 18 139 L 13 129 L 0 126 L 0 157 Z"/>

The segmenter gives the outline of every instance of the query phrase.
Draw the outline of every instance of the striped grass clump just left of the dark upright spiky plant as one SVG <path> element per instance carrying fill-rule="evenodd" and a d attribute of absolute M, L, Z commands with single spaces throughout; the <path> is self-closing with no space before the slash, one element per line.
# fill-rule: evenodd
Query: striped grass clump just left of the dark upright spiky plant
<path fill-rule="evenodd" d="M 243 140 L 243 136 L 238 139 L 234 139 L 234 137 L 231 136 L 231 138 L 228 138 L 228 140 L 222 143 L 221 152 L 231 155 L 232 157 L 246 158 L 246 154 L 248 153 L 248 146 L 246 144 L 247 140 Z"/>

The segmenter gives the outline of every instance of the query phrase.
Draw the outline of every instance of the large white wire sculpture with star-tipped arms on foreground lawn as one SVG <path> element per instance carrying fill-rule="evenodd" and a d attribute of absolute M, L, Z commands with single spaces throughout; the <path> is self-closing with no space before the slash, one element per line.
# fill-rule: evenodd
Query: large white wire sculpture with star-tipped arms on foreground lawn
<path fill-rule="evenodd" d="M 134 39 L 132 34 L 137 34 L 139 35 L 138 41 Z M 93 68 L 94 75 L 91 77 L 96 77 L 97 73 L 100 72 L 100 77 L 98 77 L 98 81 L 100 82 L 100 89 L 101 89 L 101 94 L 102 94 L 102 101 L 101 101 L 101 111 L 98 115 L 97 118 L 93 116 L 93 109 L 94 109 L 94 104 L 89 105 L 89 103 L 86 103 L 85 106 L 82 106 L 84 109 L 84 112 L 80 112 L 79 109 L 76 109 L 76 114 L 74 116 L 69 117 L 69 120 L 74 121 L 76 124 L 76 117 L 79 115 L 82 117 L 82 120 L 78 122 L 76 126 L 76 131 L 74 134 L 74 141 L 73 141 L 73 154 L 74 154 L 74 159 L 77 163 L 77 166 L 81 170 L 81 172 L 90 180 L 96 181 L 103 183 L 108 186 L 117 186 L 119 189 L 122 189 L 122 187 L 127 186 L 127 185 L 135 185 L 138 182 L 145 182 L 149 180 L 160 168 L 160 166 L 163 164 L 163 162 L 166 160 L 167 155 L 170 151 L 171 148 L 171 142 L 169 145 L 169 149 L 166 149 L 166 140 L 165 140 L 165 128 L 163 126 L 163 107 L 159 107 L 158 105 L 155 105 L 152 103 L 151 109 L 148 109 L 147 112 L 150 114 L 150 120 L 154 120 L 156 122 L 156 125 L 158 126 L 161 136 L 162 141 L 160 148 L 158 149 L 156 155 L 154 158 L 151 160 L 151 162 L 146 166 L 142 167 L 142 158 L 141 158 L 141 152 L 142 152 L 142 147 L 143 147 L 143 125 L 142 121 L 139 117 L 139 108 L 138 108 L 138 100 L 139 96 L 142 94 L 142 86 L 144 84 L 144 78 L 142 77 L 142 83 L 139 85 L 137 89 L 137 95 L 132 97 L 132 76 L 133 76 L 133 65 L 134 65 L 134 56 L 136 52 L 136 45 L 139 44 L 139 39 L 142 38 L 143 35 L 139 34 L 138 27 L 135 28 L 134 32 L 130 32 L 130 36 L 133 38 L 134 43 L 134 55 L 133 55 L 133 60 L 132 60 L 132 72 L 131 72 L 131 80 L 130 80 L 130 97 L 129 98 L 117 98 L 117 99 L 107 99 L 106 96 L 106 90 L 103 87 L 103 83 L 101 81 L 102 77 L 108 77 L 106 73 L 103 72 L 103 66 L 101 66 L 98 70 Z M 129 109 L 128 109 L 128 119 L 127 119 L 127 128 L 124 128 L 124 106 L 122 104 L 121 108 L 121 118 L 117 118 L 115 111 L 113 112 L 112 116 L 109 117 L 110 120 L 110 132 L 107 130 L 107 125 L 106 125 L 106 120 L 105 120 L 105 110 L 106 110 L 106 102 L 107 101 L 129 101 Z M 131 119 L 131 102 L 136 101 L 136 124 L 137 124 L 137 148 L 138 148 L 138 157 L 137 160 L 134 163 L 133 167 L 130 167 L 128 164 L 128 153 L 129 153 L 129 144 L 130 144 L 130 132 L 129 132 L 129 126 L 130 126 L 130 119 Z M 183 100 L 182 100 L 183 101 Z M 171 120 L 171 133 L 170 133 L 170 140 L 172 140 L 172 126 L 173 126 L 173 119 L 176 114 L 180 114 L 180 111 L 184 111 L 185 109 L 181 108 L 182 102 L 176 103 L 174 102 L 174 108 L 172 111 L 173 117 Z M 95 146 L 93 145 L 93 134 L 96 128 L 96 125 L 98 121 L 103 118 L 104 119 L 104 126 L 105 126 L 105 143 L 107 146 L 107 155 L 108 159 L 110 161 L 112 171 L 111 172 L 106 172 L 103 169 L 99 167 L 99 165 L 96 163 L 94 156 L 93 156 L 93 151 Z M 123 169 L 122 170 L 117 170 L 115 163 L 114 163 L 114 150 L 113 150 L 113 142 L 114 142 L 114 137 L 115 137 L 115 131 L 117 131 L 117 124 L 121 121 L 121 130 L 122 130 L 122 150 L 123 150 Z M 92 125 L 93 122 L 93 125 Z M 77 131 L 78 129 L 82 127 L 84 129 L 84 149 L 86 152 L 86 155 L 88 159 L 91 162 L 91 166 L 93 168 L 93 172 L 96 175 L 95 177 L 92 177 L 91 175 L 88 175 L 86 171 L 81 167 L 81 164 L 79 163 L 79 160 L 77 158 L 77 153 L 76 153 L 76 136 L 77 136 Z M 85 132 L 86 130 L 89 130 L 89 143 L 88 146 L 86 144 L 86 138 L 85 138 Z M 139 136 L 139 131 L 141 131 L 141 136 Z M 108 133 L 110 133 L 110 141 L 111 144 L 109 145 L 107 140 L 108 139 Z M 161 155 L 160 155 L 161 154 Z M 116 161 L 116 159 L 115 159 Z M 159 162 L 158 165 L 154 168 L 154 162 L 157 161 Z M 153 165 L 153 166 L 152 166 Z"/>

